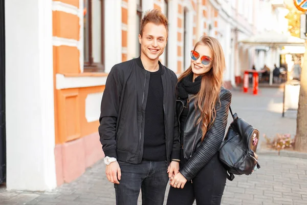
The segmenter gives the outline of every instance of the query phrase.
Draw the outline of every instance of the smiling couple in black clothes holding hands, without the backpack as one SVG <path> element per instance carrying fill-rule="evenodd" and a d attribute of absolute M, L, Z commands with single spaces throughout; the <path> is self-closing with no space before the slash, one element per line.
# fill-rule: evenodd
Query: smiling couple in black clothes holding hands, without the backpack
<path fill-rule="evenodd" d="M 99 134 L 116 204 L 220 204 L 226 170 L 218 159 L 231 93 L 222 87 L 224 53 L 203 36 L 177 76 L 159 61 L 168 22 L 158 10 L 141 20 L 141 56 L 115 65 L 101 101 Z"/>

